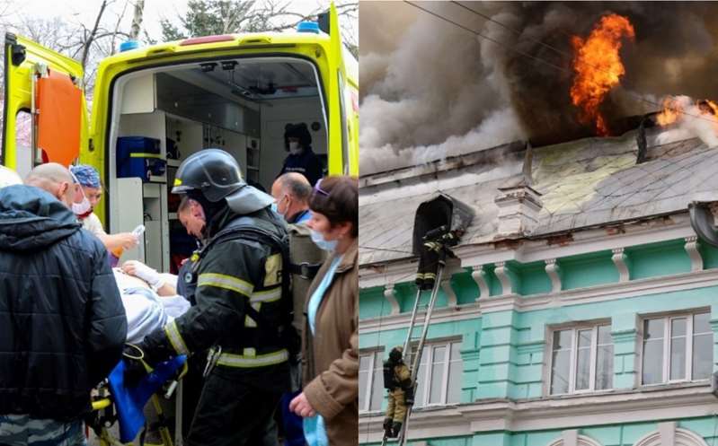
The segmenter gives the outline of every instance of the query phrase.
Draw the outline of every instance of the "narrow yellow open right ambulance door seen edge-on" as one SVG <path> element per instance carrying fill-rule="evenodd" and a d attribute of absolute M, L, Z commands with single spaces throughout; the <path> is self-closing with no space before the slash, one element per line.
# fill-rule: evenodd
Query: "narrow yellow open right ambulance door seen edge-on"
<path fill-rule="evenodd" d="M 333 175 L 359 175 L 359 151 L 356 147 L 357 144 L 352 144 L 350 141 L 350 116 L 347 107 L 350 107 L 351 103 L 347 69 L 344 65 L 344 47 L 341 43 L 339 16 L 333 2 L 329 8 L 328 17 L 326 15 L 320 17 L 319 22 L 320 27 L 324 25 L 324 28 L 328 28 L 324 31 L 329 33 L 331 48 L 328 55 L 329 147 L 327 147 L 327 167 L 329 173 Z"/>

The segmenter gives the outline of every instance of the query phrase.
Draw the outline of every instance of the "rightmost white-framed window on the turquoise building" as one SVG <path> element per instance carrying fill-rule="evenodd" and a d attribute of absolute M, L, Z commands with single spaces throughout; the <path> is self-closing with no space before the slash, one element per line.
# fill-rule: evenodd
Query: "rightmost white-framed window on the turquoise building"
<path fill-rule="evenodd" d="M 643 320 L 643 385 L 705 380 L 713 372 L 710 313 Z"/>

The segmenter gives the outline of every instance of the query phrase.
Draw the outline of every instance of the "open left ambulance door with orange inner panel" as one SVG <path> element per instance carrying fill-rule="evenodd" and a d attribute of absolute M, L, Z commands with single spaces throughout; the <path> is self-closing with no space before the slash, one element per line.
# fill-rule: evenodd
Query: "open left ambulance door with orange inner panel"
<path fill-rule="evenodd" d="M 0 164 L 22 177 L 42 162 L 69 165 L 87 141 L 83 67 L 12 33 L 4 50 Z"/>

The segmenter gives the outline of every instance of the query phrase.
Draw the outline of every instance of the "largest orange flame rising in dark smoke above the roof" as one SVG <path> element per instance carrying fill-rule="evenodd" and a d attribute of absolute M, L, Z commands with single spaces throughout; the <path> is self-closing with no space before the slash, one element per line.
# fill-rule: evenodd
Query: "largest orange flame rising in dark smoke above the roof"
<path fill-rule="evenodd" d="M 622 15 L 610 14 L 601 18 L 588 39 L 573 36 L 573 71 L 576 77 L 571 87 L 573 105 L 581 107 L 582 123 L 595 122 L 599 136 L 608 135 L 606 120 L 598 111 L 604 97 L 625 74 L 618 51 L 621 38 L 634 39 L 634 26 Z"/>

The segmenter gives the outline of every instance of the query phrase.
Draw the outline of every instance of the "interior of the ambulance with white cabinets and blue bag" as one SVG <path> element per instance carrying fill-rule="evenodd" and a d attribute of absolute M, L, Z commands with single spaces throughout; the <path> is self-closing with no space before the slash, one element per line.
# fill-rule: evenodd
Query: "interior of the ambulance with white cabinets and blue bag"
<path fill-rule="evenodd" d="M 196 249 L 170 193 L 182 160 L 201 149 L 232 153 L 245 180 L 270 193 L 287 156 L 285 127 L 304 123 L 326 165 L 325 100 L 315 66 L 297 57 L 209 60 L 122 75 L 112 89 L 108 150 L 110 231 L 144 224 L 139 259 L 176 274 Z"/>

